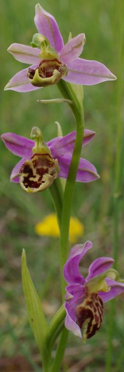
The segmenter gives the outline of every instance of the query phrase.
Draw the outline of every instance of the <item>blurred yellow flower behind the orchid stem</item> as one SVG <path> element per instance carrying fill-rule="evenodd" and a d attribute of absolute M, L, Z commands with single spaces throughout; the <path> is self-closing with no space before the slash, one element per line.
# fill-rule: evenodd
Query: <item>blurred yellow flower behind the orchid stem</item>
<path fill-rule="evenodd" d="M 35 225 L 35 232 L 38 235 L 58 238 L 60 236 L 58 221 L 55 213 L 46 216 L 41 222 Z M 70 218 L 69 237 L 71 243 L 76 243 L 79 237 L 83 235 L 84 226 L 76 217 Z"/>

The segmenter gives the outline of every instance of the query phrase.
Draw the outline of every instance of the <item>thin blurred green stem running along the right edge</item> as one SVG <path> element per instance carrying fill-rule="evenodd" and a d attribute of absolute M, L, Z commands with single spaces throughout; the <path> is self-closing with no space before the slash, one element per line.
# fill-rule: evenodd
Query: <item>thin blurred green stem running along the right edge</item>
<path fill-rule="evenodd" d="M 114 268 L 117 269 L 118 247 L 119 247 L 119 210 L 120 210 L 120 196 L 122 184 L 122 163 L 123 163 L 123 123 L 121 120 L 121 106 L 123 97 L 123 25 L 124 25 L 124 0 L 118 1 L 117 7 L 119 9 L 119 62 L 118 62 L 118 80 L 117 80 L 117 144 L 116 144 L 116 160 L 115 160 L 115 183 L 114 183 L 114 248 L 113 258 L 115 260 Z M 108 334 L 108 351 L 106 359 L 106 372 L 111 371 L 112 352 L 113 352 L 113 335 L 115 328 L 115 301 L 110 304 L 109 317 L 109 334 Z"/>

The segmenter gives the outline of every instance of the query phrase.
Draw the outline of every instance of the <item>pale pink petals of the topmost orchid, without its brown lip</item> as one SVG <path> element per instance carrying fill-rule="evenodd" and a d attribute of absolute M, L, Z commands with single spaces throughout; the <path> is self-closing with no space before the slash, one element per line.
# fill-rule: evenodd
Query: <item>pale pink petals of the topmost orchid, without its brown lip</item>
<path fill-rule="evenodd" d="M 35 12 L 35 25 L 38 33 L 49 40 L 51 47 L 56 51 L 62 64 L 65 64 L 68 70 L 66 76 L 61 78 L 73 84 L 94 85 L 107 80 L 115 80 L 116 76 L 103 64 L 96 61 L 88 61 L 78 58 L 82 53 L 85 44 L 85 34 L 81 33 L 70 39 L 63 45 L 62 35 L 55 18 L 37 4 Z M 14 43 L 8 48 L 8 52 L 20 62 L 30 64 L 29 68 L 39 67 L 40 49 L 32 48 L 23 44 Z M 29 92 L 41 88 L 42 82 L 34 86 L 32 81 L 27 78 L 27 69 L 16 73 L 6 84 L 4 90 L 15 90 L 17 92 Z M 56 79 L 53 82 L 56 83 Z M 48 81 L 48 84 L 51 81 Z"/>

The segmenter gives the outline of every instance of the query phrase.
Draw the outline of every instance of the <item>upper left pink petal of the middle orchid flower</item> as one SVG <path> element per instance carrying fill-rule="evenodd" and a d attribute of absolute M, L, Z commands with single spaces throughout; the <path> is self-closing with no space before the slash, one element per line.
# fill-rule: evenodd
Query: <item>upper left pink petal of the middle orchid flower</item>
<path fill-rule="evenodd" d="M 21 158 L 30 159 L 32 156 L 32 147 L 34 146 L 34 141 L 26 137 L 15 133 L 3 133 L 1 134 L 1 139 L 3 140 L 6 148 L 13 154 L 20 156 Z"/>

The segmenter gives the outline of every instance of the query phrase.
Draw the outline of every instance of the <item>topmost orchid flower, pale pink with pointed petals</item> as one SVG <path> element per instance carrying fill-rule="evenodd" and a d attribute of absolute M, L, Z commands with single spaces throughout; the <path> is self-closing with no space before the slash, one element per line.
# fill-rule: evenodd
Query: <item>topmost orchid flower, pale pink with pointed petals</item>
<path fill-rule="evenodd" d="M 5 90 L 29 92 L 55 84 L 61 78 L 69 83 L 83 85 L 116 79 L 103 63 L 78 58 L 86 41 L 84 33 L 69 37 L 64 45 L 55 18 L 40 4 L 36 5 L 34 22 L 38 33 L 33 36 L 31 46 L 14 43 L 8 48 L 8 52 L 17 61 L 31 66 L 16 73 Z"/>

